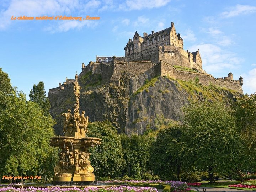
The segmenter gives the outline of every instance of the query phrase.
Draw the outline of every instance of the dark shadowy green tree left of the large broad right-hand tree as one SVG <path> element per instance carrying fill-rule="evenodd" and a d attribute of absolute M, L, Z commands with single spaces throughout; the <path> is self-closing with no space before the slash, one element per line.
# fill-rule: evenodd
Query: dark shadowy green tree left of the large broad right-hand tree
<path fill-rule="evenodd" d="M 174 125 L 159 131 L 152 144 L 150 161 L 154 173 L 163 179 L 180 180 L 181 166 L 185 162 L 185 144 L 181 141 L 182 127 Z"/>

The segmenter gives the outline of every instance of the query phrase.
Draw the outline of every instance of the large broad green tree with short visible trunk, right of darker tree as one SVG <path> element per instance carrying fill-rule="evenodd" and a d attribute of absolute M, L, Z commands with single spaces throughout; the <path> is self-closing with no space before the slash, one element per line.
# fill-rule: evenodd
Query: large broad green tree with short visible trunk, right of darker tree
<path fill-rule="evenodd" d="M 228 160 L 238 139 L 230 107 L 196 102 L 183 111 L 183 140 L 191 159 L 200 170 L 207 169 L 210 182 L 214 182 L 214 172 L 229 168 Z"/>

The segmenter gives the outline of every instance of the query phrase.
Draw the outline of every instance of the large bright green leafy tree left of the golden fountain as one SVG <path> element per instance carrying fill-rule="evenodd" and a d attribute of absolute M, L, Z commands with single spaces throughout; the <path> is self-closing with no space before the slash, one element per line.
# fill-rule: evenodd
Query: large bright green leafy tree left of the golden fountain
<path fill-rule="evenodd" d="M 0 172 L 11 175 L 37 175 L 54 156 L 49 139 L 55 124 L 37 103 L 26 101 L 23 93 L 11 96 L 12 106 L 2 122 Z M 53 169 L 53 167 L 52 167 Z"/>

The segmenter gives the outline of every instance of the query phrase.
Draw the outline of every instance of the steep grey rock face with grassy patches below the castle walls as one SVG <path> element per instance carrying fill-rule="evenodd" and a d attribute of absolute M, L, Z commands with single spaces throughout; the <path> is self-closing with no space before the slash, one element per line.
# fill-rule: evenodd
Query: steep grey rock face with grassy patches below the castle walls
<path fill-rule="evenodd" d="M 166 76 L 151 78 L 148 74 L 130 76 L 122 72 L 119 84 L 101 84 L 98 74 L 82 72 L 78 77 L 80 90 L 80 111 L 85 111 L 89 121 L 111 121 L 119 133 L 143 134 L 156 130 L 161 125 L 173 124 L 182 115 L 182 107 L 190 100 L 220 101 L 227 105 L 242 94 L 204 87 L 198 82 L 174 80 Z M 73 84 L 50 89 L 50 113 L 56 119 L 55 132 L 62 135 L 64 113 L 74 110 Z"/>

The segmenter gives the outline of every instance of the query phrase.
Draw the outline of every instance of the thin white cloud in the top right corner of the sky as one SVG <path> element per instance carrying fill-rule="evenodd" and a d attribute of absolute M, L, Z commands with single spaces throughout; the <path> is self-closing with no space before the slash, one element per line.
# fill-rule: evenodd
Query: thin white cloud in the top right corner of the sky
<path fill-rule="evenodd" d="M 231 7 L 230 11 L 225 11 L 220 14 L 220 16 L 224 18 L 235 17 L 238 15 L 247 15 L 256 12 L 255 6 L 250 5 L 236 5 L 235 7 Z"/>

